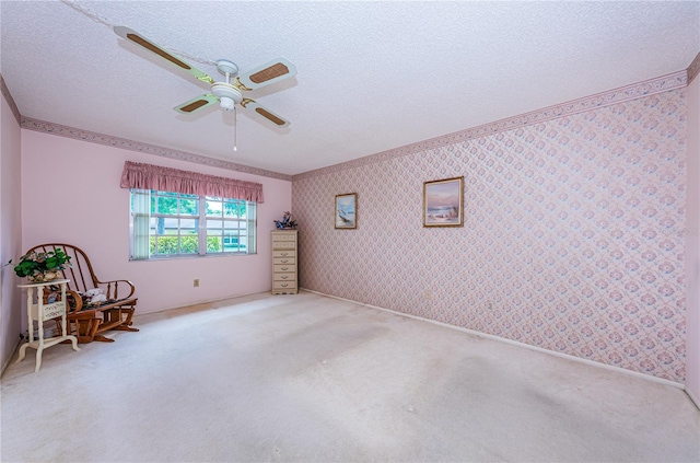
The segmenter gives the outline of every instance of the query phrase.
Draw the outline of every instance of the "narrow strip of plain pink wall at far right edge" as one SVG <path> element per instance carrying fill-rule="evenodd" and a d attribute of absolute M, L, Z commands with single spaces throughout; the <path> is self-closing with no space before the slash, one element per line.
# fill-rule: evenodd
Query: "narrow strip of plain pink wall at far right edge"
<path fill-rule="evenodd" d="M 688 85 L 688 196 L 686 278 L 688 332 L 686 387 L 700 406 L 700 77 Z"/>

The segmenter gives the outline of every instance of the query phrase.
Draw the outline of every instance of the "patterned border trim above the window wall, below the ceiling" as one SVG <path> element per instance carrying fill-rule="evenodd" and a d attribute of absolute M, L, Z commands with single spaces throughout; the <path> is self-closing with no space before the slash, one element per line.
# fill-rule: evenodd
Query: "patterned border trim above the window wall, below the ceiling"
<path fill-rule="evenodd" d="M 141 143 L 139 141 L 128 140 L 125 138 L 112 137 L 109 135 L 96 134 L 90 130 L 61 126 L 59 124 L 37 120 L 31 117 L 22 117 L 21 126 L 22 128 L 27 130 L 56 135 L 58 137 L 72 138 L 74 140 L 88 141 L 90 143 L 104 144 L 107 147 L 120 148 L 122 150 L 153 154 L 161 158 L 176 159 L 178 161 L 192 162 L 195 164 L 226 169 L 229 171 L 244 172 L 246 174 L 259 175 L 262 177 L 277 178 L 288 182 L 292 181 L 291 175 L 280 174 L 278 172 L 250 167 L 247 165 L 208 158 L 201 154 L 189 153 L 186 151 L 171 150 L 168 148 L 158 147 L 155 144 L 149 143 Z"/>

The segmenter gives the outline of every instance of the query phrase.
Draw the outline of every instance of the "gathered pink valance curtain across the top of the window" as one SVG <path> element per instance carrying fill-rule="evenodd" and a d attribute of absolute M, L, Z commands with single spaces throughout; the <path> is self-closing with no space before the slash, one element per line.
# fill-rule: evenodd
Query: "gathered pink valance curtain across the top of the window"
<path fill-rule="evenodd" d="M 262 185 L 259 183 L 131 161 L 124 163 L 120 186 L 264 202 Z"/>

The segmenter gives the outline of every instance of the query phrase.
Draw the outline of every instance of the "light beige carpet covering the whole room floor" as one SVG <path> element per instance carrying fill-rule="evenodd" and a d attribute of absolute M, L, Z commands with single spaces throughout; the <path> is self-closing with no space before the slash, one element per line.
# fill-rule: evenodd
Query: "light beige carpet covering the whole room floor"
<path fill-rule="evenodd" d="M 3 462 L 700 461 L 679 389 L 350 302 L 256 294 L 34 350 Z"/>

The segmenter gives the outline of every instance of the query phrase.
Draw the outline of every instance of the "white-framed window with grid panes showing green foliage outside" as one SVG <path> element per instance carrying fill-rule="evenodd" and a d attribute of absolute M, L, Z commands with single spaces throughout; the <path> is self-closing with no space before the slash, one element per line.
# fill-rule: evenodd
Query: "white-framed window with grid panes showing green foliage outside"
<path fill-rule="evenodd" d="M 132 188 L 130 230 L 133 261 L 255 254 L 256 204 Z"/>

